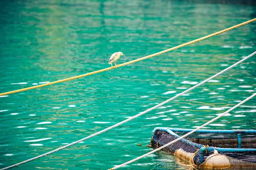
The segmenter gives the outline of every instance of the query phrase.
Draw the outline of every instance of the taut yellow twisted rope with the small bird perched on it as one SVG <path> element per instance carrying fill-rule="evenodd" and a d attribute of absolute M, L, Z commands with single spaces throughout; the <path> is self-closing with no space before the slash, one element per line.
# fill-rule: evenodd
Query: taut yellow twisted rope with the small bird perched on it
<path fill-rule="evenodd" d="M 213 34 L 210 34 L 210 35 L 207 35 L 205 37 L 201 37 L 201 38 L 198 38 L 196 40 L 193 40 L 193 41 L 190 41 L 190 42 L 186 42 L 184 44 L 181 44 L 181 45 L 178 45 L 176 47 L 172 47 L 172 48 L 169 48 L 167 50 L 164 50 L 164 51 L 160 51 L 158 53 L 155 53 L 155 54 L 151 54 L 151 55 L 148 55 L 146 57 L 142 57 L 142 58 L 139 58 L 139 59 L 134 59 L 132 61 L 129 61 L 129 62 L 125 62 L 123 64 L 119 64 L 119 65 L 116 65 L 115 67 L 113 68 L 119 68 L 119 67 L 122 67 L 122 66 L 125 66 L 125 65 L 129 65 L 129 64 L 132 64 L 134 62 L 138 62 L 138 61 L 141 61 L 143 59 L 148 59 L 148 58 L 151 58 L 151 57 L 154 57 L 154 56 L 157 56 L 157 55 L 160 55 L 160 54 L 163 54 L 163 53 L 166 53 L 166 52 L 169 52 L 169 51 L 172 51 L 172 50 L 175 50 L 177 48 L 180 48 L 180 47 L 184 47 L 186 45 L 190 45 L 192 43 L 195 43 L 195 42 L 198 42 L 198 41 L 201 41 L 201 40 L 204 40 L 204 39 L 207 39 L 209 37 L 213 37 L 215 35 L 218 35 L 218 34 L 221 34 L 221 33 L 224 33 L 226 31 L 230 31 L 234 28 L 238 28 L 240 26 L 244 26 L 248 23 L 251 23 L 253 21 L 256 21 L 256 18 L 252 19 L 252 20 L 248 20 L 244 23 L 240 23 L 236 26 L 232 26 L 230 28 L 227 28 L 227 29 L 224 29 L 222 31 L 218 31 L 218 32 L 215 32 Z M 22 88 L 22 89 L 18 89 L 18 90 L 15 90 L 15 91 L 9 91 L 9 92 L 5 92 L 5 93 L 1 93 L 0 96 L 3 96 L 3 95 L 8 95 L 8 94 L 13 94 L 13 93 L 17 93 L 17 92 L 21 92 L 21 91 L 27 91 L 27 90 L 31 90 L 31 89 L 34 89 L 34 88 L 41 88 L 41 87 L 44 87 L 44 86 L 47 86 L 47 85 L 53 85 L 53 84 L 56 84 L 56 83 L 60 83 L 60 82 L 66 82 L 68 80 L 73 80 L 73 79 L 78 79 L 78 78 L 81 78 L 81 77 L 86 77 L 86 76 L 90 76 L 90 75 L 93 75 L 93 74 L 96 74 L 96 73 L 101 73 L 103 71 L 108 71 L 108 70 L 111 70 L 113 69 L 112 67 L 109 67 L 109 68 L 104 68 L 104 69 L 101 69 L 101 70 L 98 70 L 98 71 L 93 71 L 93 72 L 90 72 L 90 73 L 87 73 L 87 74 L 81 74 L 79 76 L 75 76 L 75 77 L 70 77 L 70 78 L 67 78 L 67 79 L 61 79 L 61 80 L 58 80 L 58 81 L 54 81 L 54 82 L 49 82 L 49 83 L 45 83 L 45 84 L 42 84 L 42 85 L 35 85 L 35 86 L 32 86 L 32 87 L 29 87 L 29 88 Z"/>

